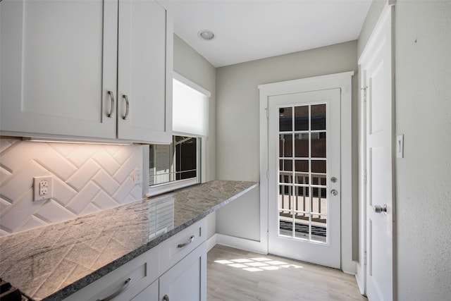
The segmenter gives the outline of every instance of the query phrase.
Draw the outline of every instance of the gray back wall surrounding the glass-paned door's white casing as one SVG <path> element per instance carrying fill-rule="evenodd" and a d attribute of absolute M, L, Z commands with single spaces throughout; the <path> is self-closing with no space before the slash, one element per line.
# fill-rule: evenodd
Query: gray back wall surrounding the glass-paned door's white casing
<path fill-rule="evenodd" d="M 357 72 L 357 41 L 217 68 L 216 177 L 259 181 L 257 85 L 351 70 Z M 357 76 L 353 79 L 352 102 L 357 125 Z M 354 137 L 353 157 L 357 168 L 357 126 Z M 357 182 L 354 186 L 357 188 Z M 357 210 L 357 191 L 354 196 Z M 259 202 L 259 194 L 255 192 L 217 211 L 216 232 L 260 240 Z"/>

